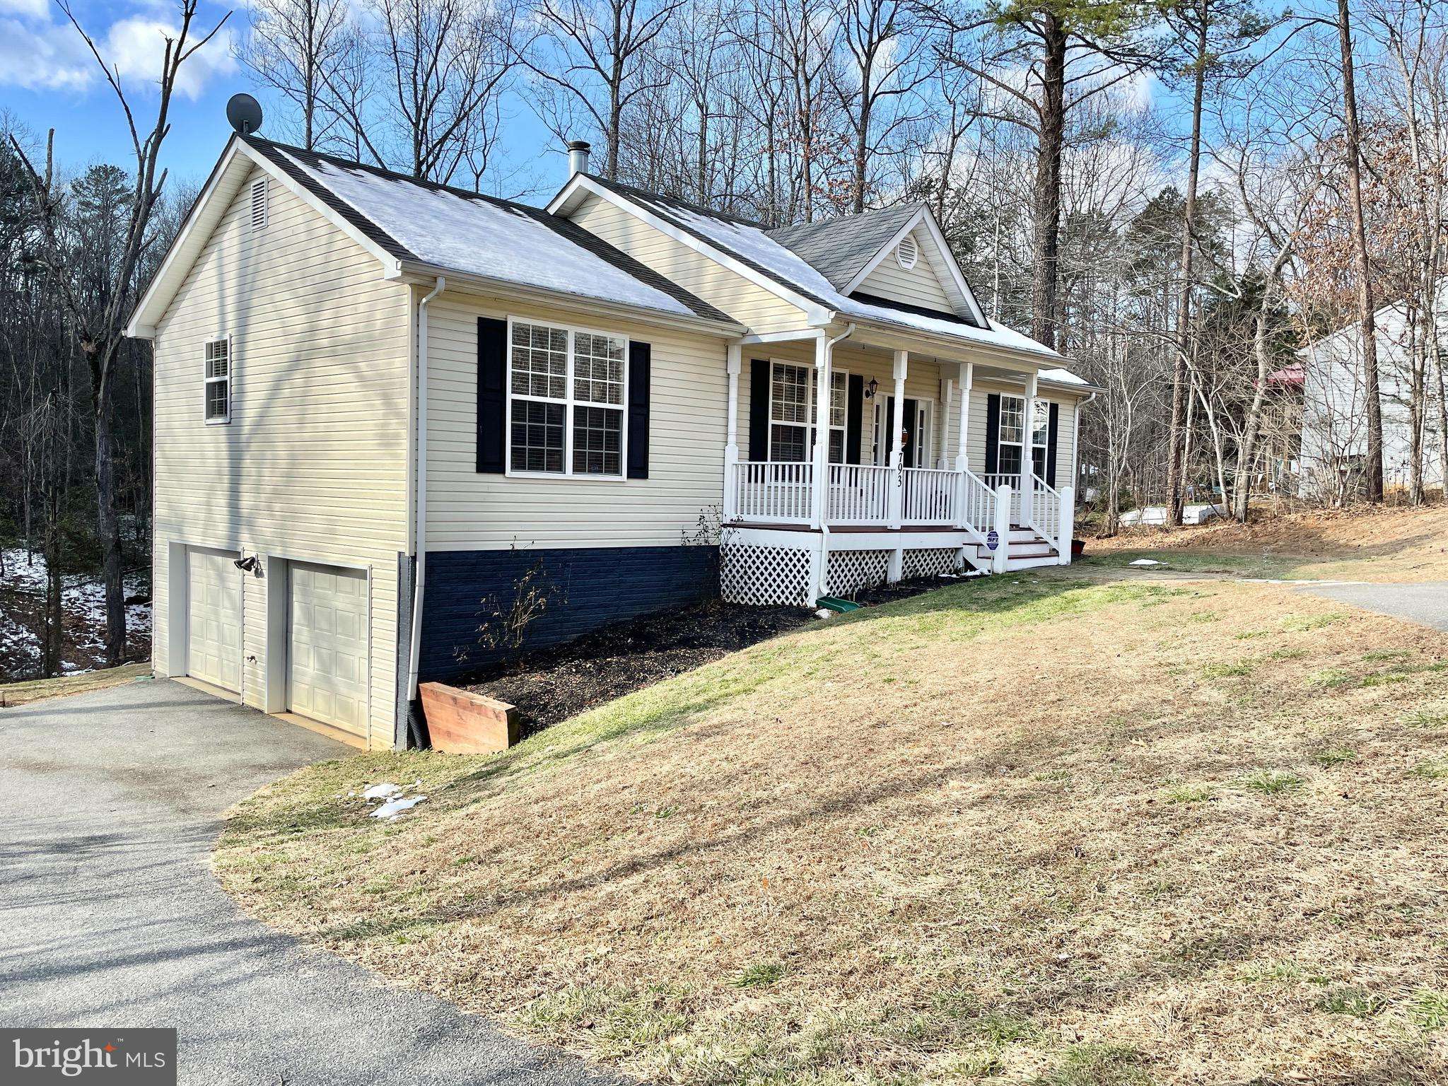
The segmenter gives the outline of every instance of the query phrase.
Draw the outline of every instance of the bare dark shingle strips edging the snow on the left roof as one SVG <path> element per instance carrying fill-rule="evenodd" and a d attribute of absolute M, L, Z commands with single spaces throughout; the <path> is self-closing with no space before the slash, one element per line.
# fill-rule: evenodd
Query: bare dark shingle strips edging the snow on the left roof
<path fill-rule="evenodd" d="M 608 245 L 599 237 L 595 237 L 588 230 L 575 224 L 572 220 L 549 214 L 542 207 L 531 207 L 529 204 L 514 203 L 513 200 L 501 200 L 494 195 L 472 193 L 466 188 L 440 185 L 434 181 L 423 181 L 421 178 L 411 177 L 410 174 L 398 174 L 391 169 L 384 169 L 381 167 L 371 167 L 363 162 L 353 162 L 346 158 L 337 158 L 336 155 L 324 155 L 317 151 L 304 151 L 303 148 L 294 148 L 287 143 L 277 143 L 269 139 L 262 139 L 261 136 L 239 136 L 239 139 L 246 140 L 249 146 L 255 148 L 258 152 L 265 155 L 266 161 L 277 165 L 287 174 L 287 177 L 292 178 L 297 184 L 300 184 L 308 193 L 321 200 L 327 207 L 330 207 L 333 211 L 342 216 L 342 219 L 345 219 L 348 223 L 356 227 L 363 237 L 366 237 L 371 242 L 375 242 L 385 252 L 388 252 L 390 255 L 395 256 L 400 261 L 407 261 L 411 264 L 426 264 L 423 258 L 420 258 L 413 252 L 408 252 L 408 249 L 403 246 L 395 237 L 388 235 L 376 223 L 369 220 L 355 207 L 352 207 L 352 204 L 349 204 L 346 200 L 342 200 L 339 195 L 332 193 L 313 174 L 307 174 L 306 171 L 298 169 L 297 164 L 292 162 L 291 159 L 294 158 L 300 162 L 311 165 L 316 165 L 319 162 L 327 162 L 333 167 L 340 167 L 343 169 L 361 169 L 368 174 L 375 174 L 376 177 L 387 178 L 388 181 L 405 181 L 408 184 L 418 185 L 420 188 L 429 188 L 439 193 L 450 193 L 465 200 L 479 200 L 494 204 L 495 207 L 504 207 L 511 211 L 526 214 L 530 219 L 547 226 L 560 237 L 572 242 L 578 248 L 585 249 L 594 256 L 598 256 L 601 261 L 605 261 L 607 264 L 613 265 L 626 275 L 630 275 L 643 282 L 644 285 L 653 287 L 654 290 L 668 294 L 670 298 L 678 301 L 681 306 L 688 308 L 695 316 L 704 317 L 707 320 L 725 321 L 730 324 L 736 323 L 734 319 L 730 317 L 727 313 L 723 313 L 714 306 L 710 306 L 702 298 L 695 297 L 694 294 L 683 290 L 672 279 L 659 275 L 659 272 L 653 271 L 653 268 L 640 264 L 628 253 L 615 249 L 614 246 Z"/>

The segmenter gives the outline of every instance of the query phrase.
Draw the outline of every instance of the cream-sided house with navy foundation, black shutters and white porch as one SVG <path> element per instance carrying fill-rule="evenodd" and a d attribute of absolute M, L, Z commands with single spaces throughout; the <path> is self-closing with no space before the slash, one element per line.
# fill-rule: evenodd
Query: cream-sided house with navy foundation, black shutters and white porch
<path fill-rule="evenodd" d="M 1093 390 L 924 206 L 765 230 L 571 164 L 537 209 L 227 143 L 127 329 L 159 675 L 401 746 L 534 575 L 543 643 L 1070 560 Z"/>

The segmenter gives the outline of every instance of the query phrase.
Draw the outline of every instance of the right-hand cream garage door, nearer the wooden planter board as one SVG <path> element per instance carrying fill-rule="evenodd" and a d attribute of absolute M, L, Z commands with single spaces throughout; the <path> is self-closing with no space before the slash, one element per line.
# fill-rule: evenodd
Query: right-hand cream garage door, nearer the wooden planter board
<path fill-rule="evenodd" d="M 366 576 L 291 563 L 292 712 L 361 734 L 366 717 Z"/>

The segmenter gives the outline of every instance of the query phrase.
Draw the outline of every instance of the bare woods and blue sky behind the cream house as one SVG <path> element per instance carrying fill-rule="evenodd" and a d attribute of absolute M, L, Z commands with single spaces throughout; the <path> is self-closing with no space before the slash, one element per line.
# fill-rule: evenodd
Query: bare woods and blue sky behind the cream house
<path fill-rule="evenodd" d="M 62 6 L 62 10 L 64 6 Z M 1287 498 L 1297 350 L 1354 326 L 1365 456 L 1329 501 L 1384 498 L 1380 365 L 1448 473 L 1438 291 L 1448 3 L 1253 0 L 256 0 L 236 54 L 265 135 L 514 195 L 520 107 L 610 178 L 767 226 L 927 201 L 982 304 L 1105 391 L 1079 494 L 1095 523 Z M 70 12 L 67 10 L 67 14 Z M 149 349 L 130 306 L 194 197 L 167 180 L 177 72 L 216 33 L 175 9 L 159 94 L 107 71 L 132 161 L 67 175 L 0 146 L 0 539 L 46 559 L 36 670 L 62 668 L 62 579 L 149 553 Z M 85 29 L 77 35 L 90 45 Z M 562 175 L 557 181 L 562 181 Z M 1380 362 L 1373 313 L 1407 308 Z M 1273 375 L 1277 375 L 1276 378 Z M 1423 501 L 1415 475 L 1400 495 Z M 1263 504 L 1266 502 L 1266 504 Z M 3 573 L 4 571 L 0 571 Z M 0 601 L 3 605 L 4 601 Z M 3 633 L 3 631 L 0 631 Z"/>

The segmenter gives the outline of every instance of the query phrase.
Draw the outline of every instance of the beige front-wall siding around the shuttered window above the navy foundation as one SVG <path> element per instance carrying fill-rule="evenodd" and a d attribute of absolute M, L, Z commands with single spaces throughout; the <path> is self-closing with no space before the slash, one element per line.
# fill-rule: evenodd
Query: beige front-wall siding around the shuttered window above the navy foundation
<path fill-rule="evenodd" d="M 647 479 L 476 471 L 478 317 L 510 316 L 652 345 Z M 429 550 L 679 546 L 723 505 L 723 339 L 447 291 L 429 304 L 427 368 Z"/>

